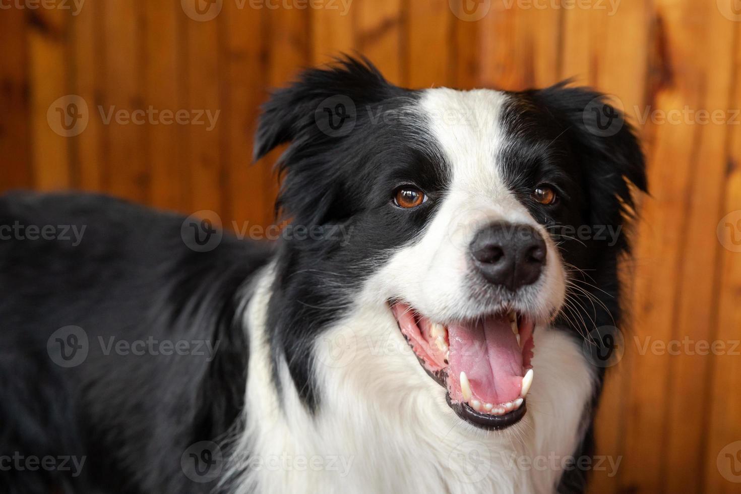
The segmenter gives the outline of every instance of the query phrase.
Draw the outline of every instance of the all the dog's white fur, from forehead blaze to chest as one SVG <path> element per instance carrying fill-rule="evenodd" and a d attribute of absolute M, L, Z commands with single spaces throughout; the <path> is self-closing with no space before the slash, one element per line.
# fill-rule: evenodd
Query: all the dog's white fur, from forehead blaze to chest
<path fill-rule="evenodd" d="M 497 127 L 505 96 L 491 90 L 428 90 L 420 110 L 452 163 L 450 192 L 417 238 L 378 267 L 347 318 L 316 341 L 320 406 L 310 415 L 285 362 L 282 396 L 270 375 L 266 307 L 273 267 L 260 276 L 247 310 L 250 364 L 245 431 L 236 446 L 237 493 L 551 493 L 556 464 L 576 450 L 594 372 L 576 341 L 547 321 L 563 303 L 565 272 L 554 244 L 508 191 L 494 162 L 506 145 Z M 443 117 L 445 116 L 445 117 Z M 452 116 L 452 120 L 451 120 Z M 548 244 L 545 272 L 525 290 L 519 310 L 541 323 L 534 334 L 535 378 L 528 412 L 502 431 L 480 430 L 445 403 L 445 390 L 422 369 L 388 309 L 400 297 L 433 320 L 489 313 L 467 283 L 464 247 L 476 225 L 504 219 L 529 224 Z M 491 305 L 490 305 L 491 304 Z M 253 467 L 244 468 L 240 452 Z M 522 458 L 525 463 L 522 463 Z M 268 463 L 282 458 L 278 468 Z M 313 462 L 313 463 L 312 463 Z M 331 464 L 330 464 L 331 463 Z"/>

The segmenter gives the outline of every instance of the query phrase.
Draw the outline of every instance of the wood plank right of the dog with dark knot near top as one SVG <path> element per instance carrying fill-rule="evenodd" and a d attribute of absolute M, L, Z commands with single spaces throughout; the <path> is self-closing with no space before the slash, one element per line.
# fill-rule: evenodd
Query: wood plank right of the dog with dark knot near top
<path fill-rule="evenodd" d="M 651 110 L 681 112 L 685 105 L 700 107 L 702 81 L 692 73 L 697 59 L 694 50 L 698 36 L 684 24 L 697 16 L 690 5 L 675 1 L 657 1 L 655 43 L 665 49 L 655 60 L 654 70 L 682 73 L 682 77 L 664 80 L 648 101 Z M 694 24 L 701 29 L 701 24 Z M 670 68 L 667 68 L 670 67 Z M 654 353 L 641 347 L 645 341 L 668 343 L 677 336 L 677 287 L 682 282 L 688 238 L 688 194 L 691 193 L 693 157 L 697 153 L 697 125 L 671 125 L 649 121 L 648 177 L 652 199 L 645 201 L 644 224 L 638 238 L 637 283 L 634 295 L 634 320 L 631 350 L 631 395 L 625 422 L 625 458 L 622 488 L 635 492 L 661 491 L 666 483 L 668 439 L 668 403 L 671 394 L 667 353 Z M 671 167 L 667 164 L 671 163 Z M 677 389 L 681 389 L 681 384 Z M 681 433 L 683 435 L 683 433 Z M 652 438 L 650 441 L 648 438 Z M 686 446 L 683 446 L 686 447 Z"/>

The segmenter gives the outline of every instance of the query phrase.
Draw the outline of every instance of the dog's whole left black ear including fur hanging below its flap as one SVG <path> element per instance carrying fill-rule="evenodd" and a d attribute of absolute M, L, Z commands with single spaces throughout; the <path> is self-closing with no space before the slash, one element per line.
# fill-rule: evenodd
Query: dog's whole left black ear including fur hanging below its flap
<path fill-rule="evenodd" d="M 276 214 L 321 223 L 339 195 L 339 173 L 357 154 L 359 128 L 405 90 L 389 84 L 367 59 L 345 57 L 307 70 L 262 107 L 254 146 L 259 159 L 290 142 L 277 162 L 283 180 Z"/>

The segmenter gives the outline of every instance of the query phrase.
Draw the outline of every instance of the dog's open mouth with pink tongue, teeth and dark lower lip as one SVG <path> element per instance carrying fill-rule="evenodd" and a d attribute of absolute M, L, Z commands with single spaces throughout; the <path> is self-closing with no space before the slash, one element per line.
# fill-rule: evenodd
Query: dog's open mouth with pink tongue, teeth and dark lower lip
<path fill-rule="evenodd" d="M 448 390 L 459 417 L 502 429 L 525 416 L 533 381 L 534 323 L 514 310 L 444 325 L 408 304 L 391 304 L 399 329 L 422 367 Z"/>

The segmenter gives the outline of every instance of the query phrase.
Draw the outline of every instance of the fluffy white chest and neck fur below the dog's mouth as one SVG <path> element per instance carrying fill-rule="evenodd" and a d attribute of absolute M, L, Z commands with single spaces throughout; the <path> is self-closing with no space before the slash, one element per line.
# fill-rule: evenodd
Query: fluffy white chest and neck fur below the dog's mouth
<path fill-rule="evenodd" d="M 247 311 L 247 428 L 230 474 L 239 478 L 237 493 L 556 490 L 559 465 L 578 446 L 594 393 L 594 372 L 574 338 L 539 328 L 539 379 L 528 414 L 505 431 L 477 430 L 456 417 L 445 390 L 421 366 L 410 364 L 414 356 L 393 318 L 368 290 L 359 310 L 316 343 L 322 395 L 312 415 L 293 387 L 279 396 L 270 385 L 265 319 L 272 281 L 267 268 Z M 290 382 L 282 367 L 281 380 Z"/>

